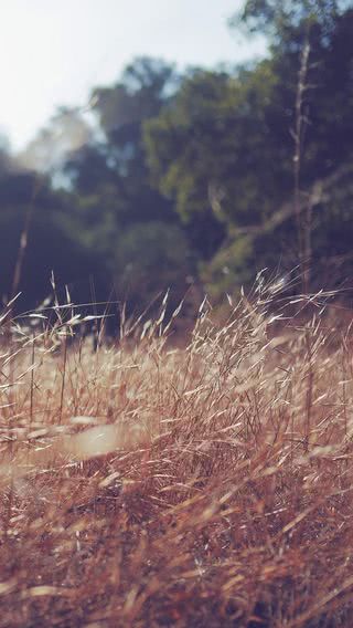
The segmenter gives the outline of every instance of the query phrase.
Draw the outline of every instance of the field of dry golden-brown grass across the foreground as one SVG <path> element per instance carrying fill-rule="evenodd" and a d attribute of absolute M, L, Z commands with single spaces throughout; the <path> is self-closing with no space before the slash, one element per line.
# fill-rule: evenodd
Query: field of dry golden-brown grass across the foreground
<path fill-rule="evenodd" d="M 1 627 L 352 625 L 352 350 L 322 300 L 277 332 L 264 297 L 204 303 L 184 348 L 162 316 L 96 353 L 57 307 L 3 323 Z"/>

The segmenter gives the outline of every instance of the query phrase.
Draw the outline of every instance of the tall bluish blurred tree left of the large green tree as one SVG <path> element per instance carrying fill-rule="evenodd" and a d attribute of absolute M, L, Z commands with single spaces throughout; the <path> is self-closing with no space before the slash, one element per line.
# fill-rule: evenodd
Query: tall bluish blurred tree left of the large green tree
<path fill-rule="evenodd" d="M 172 284 L 175 304 L 192 268 L 172 203 L 151 186 L 142 139 L 143 122 L 159 114 L 176 83 L 172 66 L 142 57 L 116 85 L 96 88 L 98 134 L 65 164 L 79 238 L 105 259 L 118 299 L 135 307 Z"/>

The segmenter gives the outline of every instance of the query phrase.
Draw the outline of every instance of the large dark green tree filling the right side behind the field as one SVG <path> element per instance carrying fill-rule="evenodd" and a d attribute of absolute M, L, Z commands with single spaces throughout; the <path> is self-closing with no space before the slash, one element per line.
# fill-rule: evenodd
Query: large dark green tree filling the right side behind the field
<path fill-rule="evenodd" d="M 329 229 L 320 224 L 332 220 L 339 226 L 331 199 L 336 172 L 352 163 L 353 136 L 353 11 L 340 7 L 324 1 L 246 2 L 244 23 L 269 28 L 269 57 L 232 74 L 193 72 L 145 126 L 149 164 L 161 192 L 189 223 L 211 211 L 224 228 L 221 247 L 218 242 L 212 261 L 202 264 L 213 285 L 247 281 L 278 255 L 285 266 L 296 264 L 291 134 L 306 38 L 310 57 L 300 114 L 306 127 L 300 203 L 306 198 L 313 202 L 313 262 L 330 251 Z M 317 193 L 321 187 L 324 195 Z"/>

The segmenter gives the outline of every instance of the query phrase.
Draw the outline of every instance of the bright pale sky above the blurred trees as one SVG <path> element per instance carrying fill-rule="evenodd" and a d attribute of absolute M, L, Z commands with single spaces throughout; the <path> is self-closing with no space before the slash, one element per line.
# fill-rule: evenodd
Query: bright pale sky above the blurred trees
<path fill-rule="evenodd" d="M 238 63 L 264 41 L 232 32 L 242 0 L 1 0 L 0 133 L 21 150 L 61 106 L 85 106 L 133 57 Z"/>

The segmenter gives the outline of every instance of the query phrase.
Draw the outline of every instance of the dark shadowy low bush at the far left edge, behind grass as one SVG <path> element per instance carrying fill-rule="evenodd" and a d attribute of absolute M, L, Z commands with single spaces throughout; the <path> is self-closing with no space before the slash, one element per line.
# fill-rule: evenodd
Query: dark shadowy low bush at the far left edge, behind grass
<path fill-rule="evenodd" d="M 69 199 L 71 200 L 71 199 Z M 12 172 L 0 188 L 0 293 L 10 297 L 20 245 L 26 242 L 18 306 L 34 307 L 51 292 L 51 274 L 58 286 L 79 283 L 99 268 L 97 255 L 85 248 L 72 227 L 72 205 L 66 195 L 53 191 L 45 178 L 34 174 Z M 87 295 L 86 295 L 87 296 Z"/>

